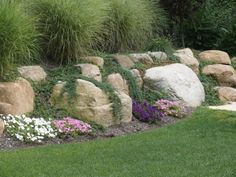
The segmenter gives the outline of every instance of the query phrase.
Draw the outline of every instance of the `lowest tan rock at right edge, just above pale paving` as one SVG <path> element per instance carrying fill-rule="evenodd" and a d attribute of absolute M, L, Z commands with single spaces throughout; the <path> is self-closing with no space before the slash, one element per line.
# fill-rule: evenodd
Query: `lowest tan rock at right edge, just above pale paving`
<path fill-rule="evenodd" d="M 223 102 L 236 102 L 236 89 L 232 87 L 219 87 L 218 95 Z"/>

